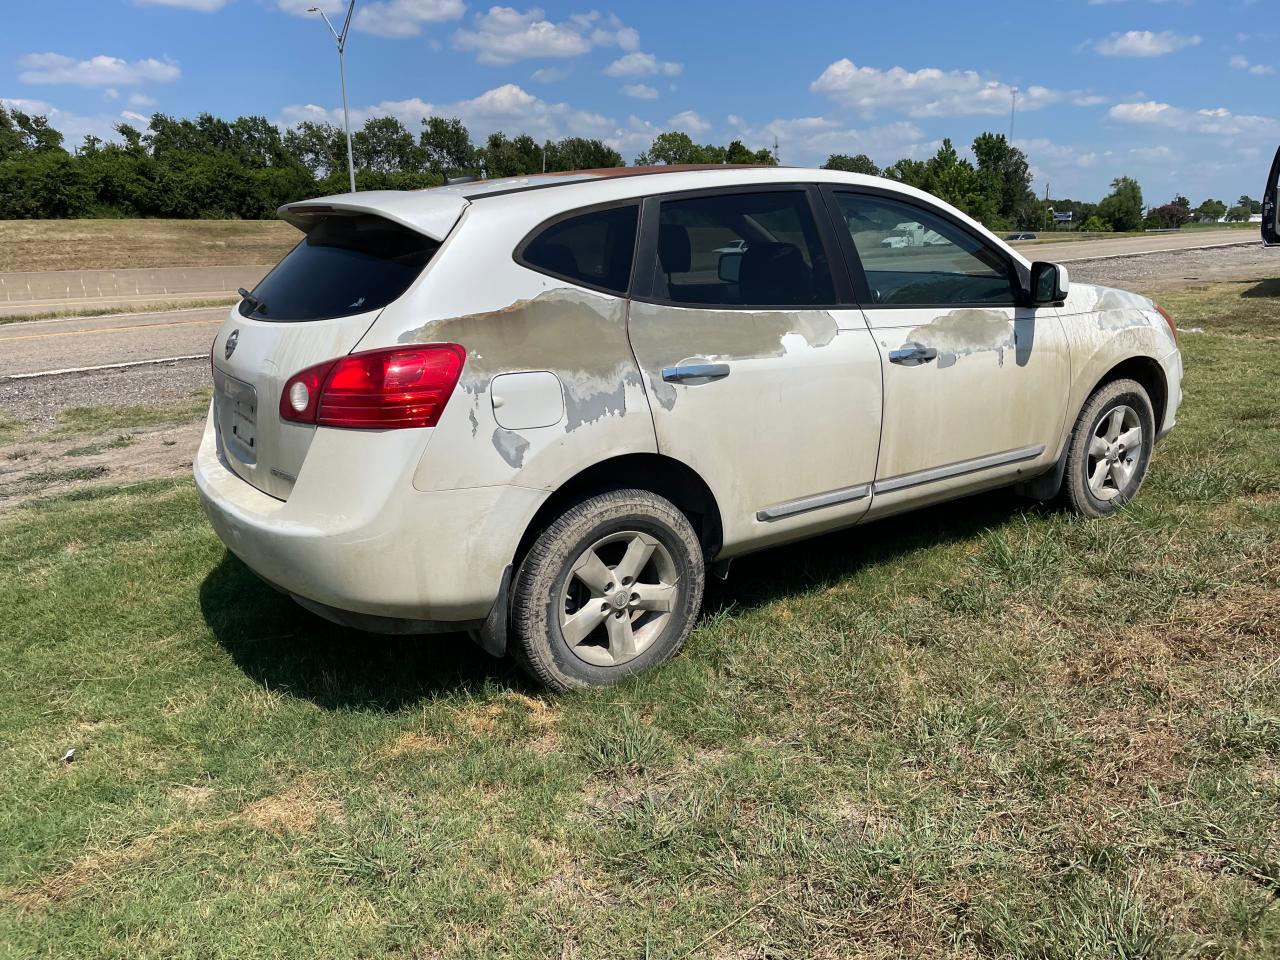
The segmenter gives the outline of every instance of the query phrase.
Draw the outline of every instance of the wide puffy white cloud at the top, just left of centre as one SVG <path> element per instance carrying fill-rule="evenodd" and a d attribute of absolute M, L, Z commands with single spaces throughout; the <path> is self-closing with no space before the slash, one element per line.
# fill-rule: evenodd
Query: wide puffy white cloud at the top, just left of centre
<path fill-rule="evenodd" d="M 631 50 L 640 35 L 617 17 L 577 14 L 562 23 L 548 20 L 541 8 L 520 13 L 512 6 L 490 6 L 477 13 L 474 29 L 460 29 L 453 45 L 486 64 L 509 64 L 532 58 L 581 56 L 596 46 Z"/>

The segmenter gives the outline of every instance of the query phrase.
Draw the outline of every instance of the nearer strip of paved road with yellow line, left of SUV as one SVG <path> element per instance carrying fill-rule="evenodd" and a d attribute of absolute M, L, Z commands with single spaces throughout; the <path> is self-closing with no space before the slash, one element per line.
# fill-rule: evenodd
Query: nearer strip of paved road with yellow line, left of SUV
<path fill-rule="evenodd" d="M 207 357 L 228 307 L 0 325 L 0 378 L 168 357 Z"/>

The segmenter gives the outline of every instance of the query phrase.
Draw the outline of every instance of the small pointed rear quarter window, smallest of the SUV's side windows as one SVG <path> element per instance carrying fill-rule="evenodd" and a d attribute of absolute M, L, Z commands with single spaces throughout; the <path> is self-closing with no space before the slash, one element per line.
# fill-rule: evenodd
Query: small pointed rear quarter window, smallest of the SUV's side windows
<path fill-rule="evenodd" d="M 525 243 L 517 259 L 584 287 L 626 294 L 639 210 L 628 204 L 557 220 Z"/>

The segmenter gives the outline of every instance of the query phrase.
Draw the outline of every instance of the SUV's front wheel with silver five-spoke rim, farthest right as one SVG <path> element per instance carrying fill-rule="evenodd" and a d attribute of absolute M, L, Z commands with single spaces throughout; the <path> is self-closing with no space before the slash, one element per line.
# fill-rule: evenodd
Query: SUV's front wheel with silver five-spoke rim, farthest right
<path fill-rule="evenodd" d="M 1138 495 L 1156 442 L 1156 415 L 1137 380 L 1100 387 L 1071 431 L 1064 494 L 1085 517 L 1105 517 Z"/>

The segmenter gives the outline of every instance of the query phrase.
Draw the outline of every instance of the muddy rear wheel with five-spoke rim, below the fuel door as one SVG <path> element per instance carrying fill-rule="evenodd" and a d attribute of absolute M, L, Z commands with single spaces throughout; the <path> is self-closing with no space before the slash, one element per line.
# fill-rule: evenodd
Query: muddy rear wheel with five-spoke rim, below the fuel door
<path fill-rule="evenodd" d="M 512 654 L 553 690 L 609 686 L 669 659 L 703 602 L 705 561 L 689 518 L 649 490 L 566 509 L 516 573 Z"/>

